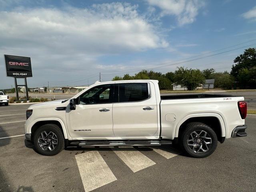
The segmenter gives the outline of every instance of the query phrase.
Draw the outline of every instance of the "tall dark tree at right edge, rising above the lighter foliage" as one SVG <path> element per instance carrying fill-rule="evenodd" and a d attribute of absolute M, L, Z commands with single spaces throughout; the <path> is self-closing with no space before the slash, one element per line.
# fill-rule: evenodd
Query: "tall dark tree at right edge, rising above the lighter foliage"
<path fill-rule="evenodd" d="M 244 54 L 240 54 L 234 59 L 235 65 L 232 65 L 230 74 L 237 80 L 239 70 L 246 68 L 250 69 L 256 66 L 256 49 L 248 48 L 244 50 Z"/>

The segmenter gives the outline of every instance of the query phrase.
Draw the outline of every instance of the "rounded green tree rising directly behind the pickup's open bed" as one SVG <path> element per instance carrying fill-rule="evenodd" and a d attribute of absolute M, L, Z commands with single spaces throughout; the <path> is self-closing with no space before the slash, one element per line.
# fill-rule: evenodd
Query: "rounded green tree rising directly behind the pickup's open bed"
<path fill-rule="evenodd" d="M 174 74 L 174 80 L 178 82 L 178 84 L 186 86 L 188 90 L 196 89 L 205 81 L 204 75 L 199 69 L 178 67 Z"/>

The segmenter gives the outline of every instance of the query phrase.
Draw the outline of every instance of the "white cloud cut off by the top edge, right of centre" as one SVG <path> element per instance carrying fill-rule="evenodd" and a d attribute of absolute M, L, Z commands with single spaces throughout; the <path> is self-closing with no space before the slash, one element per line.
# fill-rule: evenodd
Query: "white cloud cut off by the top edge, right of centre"
<path fill-rule="evenodd" d="M 160 8 L 161 15 L 176 16 L 180 26 L 193 23 L 204 0 L 146 0 L 151 6 Z"/>

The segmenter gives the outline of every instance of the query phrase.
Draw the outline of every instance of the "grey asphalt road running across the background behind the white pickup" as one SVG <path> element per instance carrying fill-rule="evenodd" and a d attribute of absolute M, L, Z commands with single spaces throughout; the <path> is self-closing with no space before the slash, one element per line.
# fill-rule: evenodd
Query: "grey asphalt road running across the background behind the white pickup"
<path fill-rule="evenodd" d="M 245 98 L 245 101 L 248 103 L 248 109 L 256 110 L 256 90 L 255 91 L 237 91 L 237 92 L 226 92 L 226 91 L 210 91 L 210 92 L 205 92 L 205 93 L 210 93 L 210 94 L 230 94 L 234 96 L 243 96 Z M 161 93 L 161 95 L 179 95 L 179 94 L 200 94 L 200 93 Z M 32 98 L 48 98 L 49 100 L 52 98 L 55 98 L 56 100 L 61 100 L 61 99 L 69 99 L 72 96 L 76 94 L 65 94 L 65 93 L 56 93 L 56 94 L 35 94 L 35 93 L 29 93 L 29 96 Z M 9 96 L 16 96 L 15 94 L 9 94 Z M 20 96 L 23 96 L 20 94 Z"/>

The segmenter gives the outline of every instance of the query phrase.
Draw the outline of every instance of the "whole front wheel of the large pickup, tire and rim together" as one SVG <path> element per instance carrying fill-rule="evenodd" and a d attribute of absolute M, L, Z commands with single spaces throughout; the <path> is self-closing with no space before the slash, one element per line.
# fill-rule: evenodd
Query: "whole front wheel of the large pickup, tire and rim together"
<path fill-rule="evenodd" d="M 56 124 L 45 124 L 38 128 L 33 136 L 36 152 L 46 156 L 56 155 L 64 147 L 64 136 Z"/>

